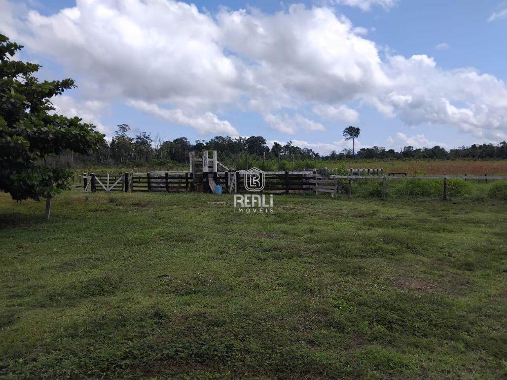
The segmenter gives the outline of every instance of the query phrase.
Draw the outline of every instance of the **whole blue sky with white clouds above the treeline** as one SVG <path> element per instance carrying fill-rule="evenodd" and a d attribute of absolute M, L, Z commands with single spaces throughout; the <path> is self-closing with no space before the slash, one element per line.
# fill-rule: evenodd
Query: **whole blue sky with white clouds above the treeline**
<path fill-rule="evenodd" d="M 357 147 L 507 139 L 507 1 L 0 0 L 58 113 L 190 141 Z"/>

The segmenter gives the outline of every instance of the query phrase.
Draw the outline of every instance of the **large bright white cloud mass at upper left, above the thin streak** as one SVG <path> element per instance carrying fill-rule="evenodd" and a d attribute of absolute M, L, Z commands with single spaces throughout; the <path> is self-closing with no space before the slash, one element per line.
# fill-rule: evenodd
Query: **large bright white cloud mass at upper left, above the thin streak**
<path fill-rule="evenodd" d="M 50 16 L 29 12 L 25 28 L 26 46 L 101 84 L 104 96 L 196 105 L 238 95 L 236 65 L 217 42 L 220 29 L 193 5 L 78 1 Z"/>

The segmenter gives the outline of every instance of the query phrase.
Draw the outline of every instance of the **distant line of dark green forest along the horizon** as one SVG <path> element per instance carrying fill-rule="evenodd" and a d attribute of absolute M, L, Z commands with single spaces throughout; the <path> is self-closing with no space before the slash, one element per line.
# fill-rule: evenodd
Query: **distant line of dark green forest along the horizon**
<path fill-rule="evenodd" d="M 446 150 L 441 146 L 414 148 L 405 146 L 399 151 L 386 149 L 382 146 L 361 148 L 352 154 L 352 149 L 333 150 L 328 155 L 320 155 L 309 148 L 296 146 L 292 141 L 281 145 L 277 142 L 269 148 L 262 136 L 248 138 L 215 136 L 209 141 L 197 140 L 190 142 L 187 137 L 178 137 L 172 141 L 164 140 L 159 135 L 151 136 L 141 132 L 130 137 L 127 124 L 118 126 L 118 130 L 110 143 L 103 141 L 100 148 L 89 155 L 75 155 L 71 158 L 74 165 L 103 166 L 142 166 L 186 164 L 189 152 L 200 152 L 203 149 L 216 150 L 219 160 L 224 163 L 241 163 L 248 159 L 271 160 L 282 165 L 282 161 L 340 161 L 340 160 L 406 160 L 406 159 L 507 159 L 507 142 L 499 144 L 473 144 Z M 198 153 L 199 155 L 199 153 Z M 248 156 L 248 158 L 247 158 Z M 67 158 L 69 158 L 67 156 Z M 283 165 L 282 165 L 283 166 Z"/>

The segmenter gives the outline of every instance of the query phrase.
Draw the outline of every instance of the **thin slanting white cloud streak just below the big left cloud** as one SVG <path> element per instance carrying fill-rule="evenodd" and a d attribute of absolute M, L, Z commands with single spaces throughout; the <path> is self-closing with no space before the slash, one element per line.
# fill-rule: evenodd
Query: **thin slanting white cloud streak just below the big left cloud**
<path fill-rule="evenodd" d="M 205 112 L 203 115 L 192 115 L 182 109 L 160 108 L 157 104 L 147 103 L 141 100 L 130 100 L 127 104 L 136 109 L 148 112 L 153 116 L 167 120 L 169 123 L 191 126 L 201 135 L 208 135 L 211 133 L 229 136 L 239 135 L 237 129 L 227 120 L 220 120 L 211 112 Z"/>

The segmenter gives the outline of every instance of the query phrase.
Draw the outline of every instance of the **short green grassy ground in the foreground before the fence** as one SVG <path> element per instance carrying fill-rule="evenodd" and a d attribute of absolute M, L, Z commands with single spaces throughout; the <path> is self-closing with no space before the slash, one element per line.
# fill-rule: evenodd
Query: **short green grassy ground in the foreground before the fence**
<path fill-rule="evenodd" d="M 0 377 L 504 378 L 507 205 L 0 195 Z"/>

